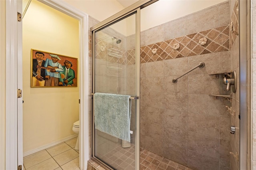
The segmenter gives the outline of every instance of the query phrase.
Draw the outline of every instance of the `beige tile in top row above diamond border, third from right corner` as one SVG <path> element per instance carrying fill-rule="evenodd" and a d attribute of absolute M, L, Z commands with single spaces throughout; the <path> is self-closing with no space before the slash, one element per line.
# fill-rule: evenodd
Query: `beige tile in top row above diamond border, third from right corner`
<path fill-rule="evenodd" d="M 164 40 L 185 36 L 188 34 L 188 18 L 180 18 L 164 24 Z"/>

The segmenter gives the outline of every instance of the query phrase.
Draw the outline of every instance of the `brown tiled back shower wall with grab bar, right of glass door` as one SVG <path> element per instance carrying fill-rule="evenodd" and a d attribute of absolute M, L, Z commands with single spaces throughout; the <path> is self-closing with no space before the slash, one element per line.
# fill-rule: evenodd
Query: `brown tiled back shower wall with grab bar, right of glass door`
<path fill-rule="evenodd" d="M 229 152 L 235 148 L 230 145 L 233 116 L 227 108 L 239 108 L 239 92 L 232 95 L 232 103 L 209 96 L 232 93 L 222 83 L 222 73 L 238 65 L 231 58 L 235 52 L 229 51 L 229 5 L 212 6 L 141 33 L 140 145 L 196 170 L 230 169 Z M 206 44 L 199 45 L 201 38 Z M 205 66 L 172 83 L 199 62 Z"/>

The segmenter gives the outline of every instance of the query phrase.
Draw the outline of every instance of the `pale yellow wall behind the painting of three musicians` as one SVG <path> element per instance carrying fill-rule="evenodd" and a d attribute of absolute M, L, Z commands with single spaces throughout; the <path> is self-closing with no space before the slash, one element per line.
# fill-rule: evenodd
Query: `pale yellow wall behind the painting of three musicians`
<path fill-rule="evenodd" d="M 23 19 L 22 45 L 23 150 L 26 153 L 74 134 L 72 126 L 79 119 L 79 88 L 31 88 L 30 50 L 78 58 L 78 20 L 32 1 Z M 63 61 L 58 62 L 63 65 Z"/>

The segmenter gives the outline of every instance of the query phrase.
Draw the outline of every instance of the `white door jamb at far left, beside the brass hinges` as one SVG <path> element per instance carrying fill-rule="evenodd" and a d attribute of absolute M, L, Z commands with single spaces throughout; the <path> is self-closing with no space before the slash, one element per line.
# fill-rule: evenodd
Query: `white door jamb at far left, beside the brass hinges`
<path fill-rule="evenodd" d="M 17 169 L 17 2 L 6 0 L 6 170 Z M 12 68 L 12 69 L 10 69 Z"/>

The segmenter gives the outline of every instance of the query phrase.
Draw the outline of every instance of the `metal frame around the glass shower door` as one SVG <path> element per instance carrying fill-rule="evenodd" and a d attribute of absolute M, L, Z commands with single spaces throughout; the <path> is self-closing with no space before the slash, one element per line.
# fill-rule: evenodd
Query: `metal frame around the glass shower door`
<path fill-rule="evenodd" d="M 111 24 L 114 24 L 128 16 L 131 16 L 132 14 L 135 14 L 136 16 L 136 25 L 135 25 L 135 37 L 136 37 L 136 45 L 135 45 L 135 55 L 136 55 L 136 96 L 138 99 L 135 102 L 136 106 L 136 117 L 135 117 L 135 168 L 136 170 L 140 169 L 140 10 L 158 0 L 143 0 L 134 3 L 133 5 L 129 6 L 128 8 L 125 8 L 124 10 L 118 12 L 117 14 L 111 16 L 110 18 L 107 18 L 106 20 L 96 24 L 93 26 L 91 31 L 91 37 L 92 37 L 92 93 L 95 93 L 95 32 L 98 30 L 101 30 L 103 28 L 106 28 L 110 26 Z M 92 159 L 102 165 L 105 168 L 112 169 L 109 167 L 106 163 L 102 162 L 98 158 L 94 156 L 94 107 L 93 107 L 93 98 L 92 98 L 92 114 L 91 114 L 91 120 L 92 120 L 92 126 L 91 126 L 91 132 L 92 132 Z"/>

